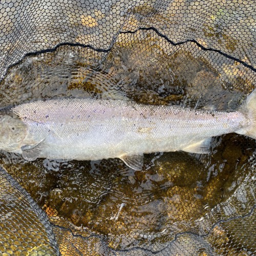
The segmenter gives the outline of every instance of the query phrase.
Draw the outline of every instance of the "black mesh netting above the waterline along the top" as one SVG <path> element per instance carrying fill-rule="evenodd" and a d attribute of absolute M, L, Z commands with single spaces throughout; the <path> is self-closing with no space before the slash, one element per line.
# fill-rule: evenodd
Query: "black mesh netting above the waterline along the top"
<path fill-rule="evenodd" d="M 5 1 L 0 9 L 1 77 L 26 54 L 60 44 L 108 53 L 138 41 L 168 55 L 186 49 L 224 77 L 255 71 L 254 1 Z"/>

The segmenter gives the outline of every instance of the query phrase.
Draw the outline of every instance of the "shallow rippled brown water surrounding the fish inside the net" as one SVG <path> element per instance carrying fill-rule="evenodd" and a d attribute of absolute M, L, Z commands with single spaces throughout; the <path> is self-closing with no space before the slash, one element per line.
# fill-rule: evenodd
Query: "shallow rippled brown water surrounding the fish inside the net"
<path fill-rule="evenodd" d="M 136 49 L 116 47 L 93 66 L 100 56 L 86 49 L 61 47 L 27 57 L 1 82 L 2 106 L 68 96 L 232 111 L 250 90 L 226 90 L 215 70 L 187 52 L 161 56 L 160 61 L 152 49 Z M 177 233 L 212 227 L 198 223 L 250 174 L 248 159 L 254 151 L 253 139 L 228 134 L 214 139 L 209 155 L 145 155 L 142 171 L 119 159 L 28 162 L 6 152 L 0 163 L 52 216 L 102 235 L 113 249 L 158 251 Z M 232 228 L 223 231 L 224 240 L 229 241 Z"/>

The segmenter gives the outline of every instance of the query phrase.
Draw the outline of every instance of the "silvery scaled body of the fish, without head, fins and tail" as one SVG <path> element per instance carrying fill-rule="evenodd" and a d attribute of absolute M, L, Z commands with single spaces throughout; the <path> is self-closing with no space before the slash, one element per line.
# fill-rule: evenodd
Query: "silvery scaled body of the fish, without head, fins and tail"
<path fill-rule="evenodd" d="M 184 150 L 209 137 L 235 132 L 246 121 L 240 112 L 98 99 L 35 101 L 12 111 L 28 127 L 25 143 L 44 140 L 39 157 L 77 160 Z"/>

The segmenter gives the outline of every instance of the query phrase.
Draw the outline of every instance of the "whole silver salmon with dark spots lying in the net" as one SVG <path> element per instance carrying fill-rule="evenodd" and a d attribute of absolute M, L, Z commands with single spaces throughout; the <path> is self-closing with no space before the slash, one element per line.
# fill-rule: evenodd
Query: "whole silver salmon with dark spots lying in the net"
<path fill-rule="evenodd" d="M 256 89 L 231 113 L 88 98 L 38 100 L 0 113 L 0 148 L 30 161 L 120 158 L 141 170 L 144 153 L 207 154 L 211 138 L 227 133 L 256 139 Z"/>

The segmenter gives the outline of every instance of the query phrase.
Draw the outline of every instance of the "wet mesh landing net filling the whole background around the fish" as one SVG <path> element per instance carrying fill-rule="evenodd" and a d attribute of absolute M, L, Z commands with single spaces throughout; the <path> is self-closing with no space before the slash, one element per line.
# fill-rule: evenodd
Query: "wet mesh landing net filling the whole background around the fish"
<path fill-rule="evenodd" d="M 1 106 L 131 99 L 234 111 L 255 88 L 254 1 L 0 3 Z M 3 255 L 254 255 L 255 140 L 210 156 L 28 162 L 1 153 Z M 32 199 L 33 198 L 33 199 Z"/>

